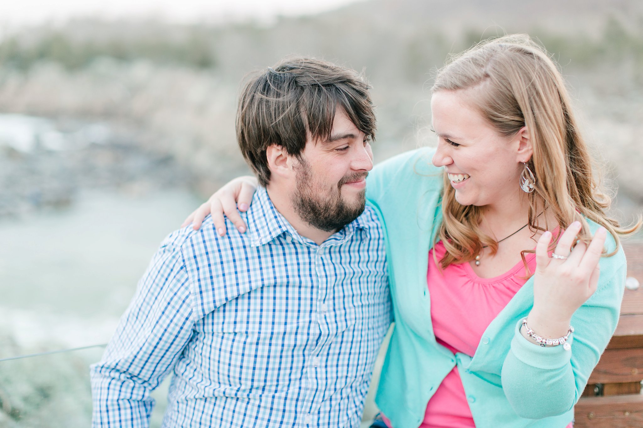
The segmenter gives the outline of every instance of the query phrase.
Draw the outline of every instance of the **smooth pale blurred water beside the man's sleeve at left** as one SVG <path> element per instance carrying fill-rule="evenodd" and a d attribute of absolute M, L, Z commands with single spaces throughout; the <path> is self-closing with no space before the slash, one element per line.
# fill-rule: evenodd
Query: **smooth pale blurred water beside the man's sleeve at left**
<path fill-rule="evenodd" d="M 176 189 L 84 191 L 68 209 L 1 220 L 0 329 L 24 348 L 107 341 L 159 243 L 197 202 Z"/>

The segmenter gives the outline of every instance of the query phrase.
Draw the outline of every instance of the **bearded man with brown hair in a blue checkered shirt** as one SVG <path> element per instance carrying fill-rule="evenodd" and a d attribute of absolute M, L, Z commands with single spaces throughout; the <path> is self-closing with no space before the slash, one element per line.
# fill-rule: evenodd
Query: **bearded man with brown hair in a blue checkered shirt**
<path fill-rule="evenodd" d="M 365 208 L 375 116 L 351 70 L 293 58 L 242 91 L 237 140 L 260 187 L 248 232 L 170 234 L 102 361 L 95 427 L 358 427 L 391 321 L 383 230 Z"/>

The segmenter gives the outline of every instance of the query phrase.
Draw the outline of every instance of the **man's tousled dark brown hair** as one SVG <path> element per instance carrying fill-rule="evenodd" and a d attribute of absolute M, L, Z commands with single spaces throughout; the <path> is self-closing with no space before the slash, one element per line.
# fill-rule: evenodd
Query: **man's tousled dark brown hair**
<path fill-rule="evenodd" d="M 314 58 L 287 57 L 252 74 L 239 97 L 237 142 L 260 185 L 270 180 L 266 149 L 299 156 L 307 137 L 327 140 L 338 107 L 367 137 L 375 137 L 370 85 L 354 70 Z"/>

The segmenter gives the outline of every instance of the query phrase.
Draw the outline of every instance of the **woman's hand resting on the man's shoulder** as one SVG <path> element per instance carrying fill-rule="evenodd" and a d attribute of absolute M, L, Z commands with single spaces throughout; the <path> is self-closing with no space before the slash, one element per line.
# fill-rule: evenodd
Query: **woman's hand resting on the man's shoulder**
<path fill-rule="evenodd" d="M 208 214 L 212 214 L 212 221 L 219 235 L 226 234 L 224 215 L 234 223 L 239 232 L 246 232 L 246 223 L 241 219 L 239 211 L 248 210 L 257 186 L 257 178 L 254 176 L 246 175 L 231 180 L 210 196 L 210 199 L 202 203 L 199 208 L 195 209 L 183 221 L 181 227 L 186 227 L 193 223 L 192 228 L 198 230 L 201 227 L 201 223 L 203 223 L 203 219 Z"/>

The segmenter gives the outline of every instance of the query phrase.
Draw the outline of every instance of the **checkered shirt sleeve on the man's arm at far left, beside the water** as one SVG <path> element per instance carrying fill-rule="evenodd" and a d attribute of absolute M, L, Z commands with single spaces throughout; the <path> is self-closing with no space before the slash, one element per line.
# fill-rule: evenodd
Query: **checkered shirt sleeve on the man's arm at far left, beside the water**
<path fill-rule="evenodd" d="M 192 302 L 181 250 L 165 243 L 152 258 L 102 361 L 91 366 L 93 427 L 148 427 L 150 391 L 192 337 Z"/>

